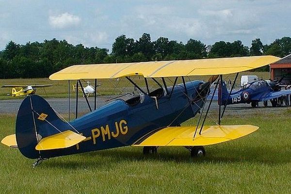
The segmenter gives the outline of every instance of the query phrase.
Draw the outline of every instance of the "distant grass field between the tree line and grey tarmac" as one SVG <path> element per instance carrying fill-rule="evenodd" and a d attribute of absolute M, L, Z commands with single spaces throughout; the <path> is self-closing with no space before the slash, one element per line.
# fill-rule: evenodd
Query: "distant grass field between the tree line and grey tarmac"
<path fill-rule="evenodd" d="M 270 79 L 270 73 L 269 72 L 242 72 L 239 74 L 237 84 L 240 83 L 240 78 L 241 75 L 258 75 L 259 79 L 265 79 L 268 80 Z M 228 76 L 224 77 L 224 80 L 234 80 L 235 74 L 230 74 Z M 145 81 L 142 77 L 131 77 L 136 83 L 138 83 L 139 86 L 145 87 Z M 204 80 L 207 81 L 209 77 L 190 77 L 190 80 Z M 159 80 L 159 79 L 158 79 Z M 86 81 L 91 81 L 94 82 L 94 80 L 86 80 Z M 86 81 L 82 81 L 83 86 L 87 86 L 85 83 Z M 157 87 L 157 84 L 148 79 L 149 85 L 152 87 Z M 161 81 L 161 80 L 159 80 Z M 170 86 L 173 84 L 174 79 L 166 79 L 167 85 Z M 186 81 L 188 79 L 186 78 Z M 181 83 L 181 79 L 178 80 L 178 83 Z M 20 84 L 20 85 L 32 85 L 32 84 L 49 84 L 52 83 L 52 87 L 48 88 L 39 88 L 36 91 L 36 94 L 40 96 L 44 96 L 46 98 L 48 97 L 67 97 L 68 96 L 68 81 L 50 81 L 48 78 L 37 78 L 37 79 L 7 79 L 7 80 L 0 80 L 0 86 L 4 84 Z M 127 81 L 125 78 L 121 78 L 120 81 L 117 82 L 117 88 L 116 89 L 116 81 L 115 79 L 113 80 L 98 80 L 98 83 L 103 83 L 98 89 L 98 95 L 117 95 L 117 94 L 123 94 L 124 92 L 129 92 L 133 90 L 133 85 Z M 162 81 L 161 81 L 162 83 Z M 76 81 L 71 81 L 70 82 L 70 91 L 71 91 L 71 96 L 75 97 L 76 94 L 72 91 L 73 89 L 73 84 L 76 84 Z M 94 83 L 91 83 L 94 85 Z M 10 88 L 0 88 L 0 99 L 11 99 L 11 96 L 7 96 L 11 92 Z M 79 92 L 79 95 L 82 96 L 81 92 Z"/>

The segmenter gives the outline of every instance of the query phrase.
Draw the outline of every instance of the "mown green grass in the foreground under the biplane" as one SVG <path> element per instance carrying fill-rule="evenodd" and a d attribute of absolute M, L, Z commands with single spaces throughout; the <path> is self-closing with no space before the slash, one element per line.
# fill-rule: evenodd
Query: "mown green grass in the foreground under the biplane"
<path fill-rule="evenodd" d="M 206 146 L 191 159 L 183 147 L 161 147 L 144 156 L 123 147 L 49 159 L 32 169 L 17 149 L 0 146 L 0 194 L 291 193 L 291 110 L 224 117 L 223 124 L 260 129 L 224 144 Z M 194 125 L 191 119 L 183 125 Z M 14 132 L 15 116 L 0 115 L 0 138 Z"/>

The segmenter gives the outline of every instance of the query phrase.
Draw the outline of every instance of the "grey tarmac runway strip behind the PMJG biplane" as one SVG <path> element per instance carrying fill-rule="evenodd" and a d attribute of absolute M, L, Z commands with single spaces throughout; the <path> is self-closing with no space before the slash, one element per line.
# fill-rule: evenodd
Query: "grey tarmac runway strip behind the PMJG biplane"
<path fill-rule="evenodd" d="M 109 102 L 108 100 L 112 98 L 112 96 L 98 96 L 97 97 L 97 108 L 101 107 Z M 89 97 L 89 103 L 91 105 L 92 110 L 94 110 L 94 97 Z M 18 112 L 18 108 L 23 99 L 9 99 L 9 100 L 0 100 L 0 113 L 12 113 L 16 114 Z M 46 99 L 50 106 L 57 111 L 58 113 L 68 113 L 68 99 L 67 98 L 47 98 Z M 209 101 L 206 104 L 206 108 L 209 104 Z M 271 106 L 271 103 L 269 103 Z M 226 108 L 226 114 L 248 114 L 250 112 L 273 112 L 277 110 L 284 110 L 290 107 L 263 107 L 262 102 L 259 103 L 259 108 L 251 108 L 250 104 L 236 104 L 236 105 L 228 105 Z M 210 110 L 218 110 L 217 101 L 213 101 Z M 70 99 L 70 113 L 75 113 L 76 111 L 76 99 Z M 78 100 L 78 113 L 88 113 L 90 112 L 85 98 L 80 97 Z"/>

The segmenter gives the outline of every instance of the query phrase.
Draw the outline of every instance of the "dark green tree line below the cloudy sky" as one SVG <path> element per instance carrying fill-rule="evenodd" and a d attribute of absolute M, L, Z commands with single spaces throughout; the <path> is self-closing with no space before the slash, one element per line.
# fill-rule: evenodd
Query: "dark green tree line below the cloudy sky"
<path fill-rule="evenodd" d="M 186 44 L 160 37 L 151 41 L 144 33 L 138 40 L 118 36 L 109 49 L 87 48 L 82 44 L 72 45 L 65 40 L 45 40 L 43 43 L 28 42 L 19 45 L 10 41 L 0 51 L 0 79 L 44 78 L 65 67 L 75 64 L 129 63 L 161 60 L 186 60 L 202 58 L 241 57 L 274 55 L 284 57 L 291 53 L 291 38 L 276 39 L 264 45 L 255 39 L 248 48 L 237 40 L 232 43 L 219 41 L 205 45 L 199 40 L 189 39 Z M 260 70 L 268 70 L 263 67 Z"/>

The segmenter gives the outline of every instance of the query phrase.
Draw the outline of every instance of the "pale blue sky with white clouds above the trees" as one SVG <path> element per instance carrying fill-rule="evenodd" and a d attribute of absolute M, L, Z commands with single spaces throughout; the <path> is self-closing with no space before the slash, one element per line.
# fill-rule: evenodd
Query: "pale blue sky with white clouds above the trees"
<path fill-rule="evenodd" d="M 56 38 L 112 49 L 116 37 L 167 37 L 250 47 L 291 36 L 290 0 L 0 0 L 0 50 Z"/>

